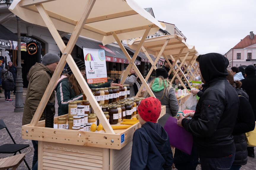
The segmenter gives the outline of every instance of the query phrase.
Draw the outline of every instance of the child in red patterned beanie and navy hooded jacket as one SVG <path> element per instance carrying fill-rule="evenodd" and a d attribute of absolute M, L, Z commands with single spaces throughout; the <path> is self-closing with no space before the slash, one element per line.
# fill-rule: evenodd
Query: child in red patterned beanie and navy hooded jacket
<path fill-rule="evenodd" d="M 143 99 L 138 106 L 141 128 L 133 134 L 130 169 L 171 169 L 173 155 L 164 128 L 156 123 L 161 102 L 154 97 Z"/>

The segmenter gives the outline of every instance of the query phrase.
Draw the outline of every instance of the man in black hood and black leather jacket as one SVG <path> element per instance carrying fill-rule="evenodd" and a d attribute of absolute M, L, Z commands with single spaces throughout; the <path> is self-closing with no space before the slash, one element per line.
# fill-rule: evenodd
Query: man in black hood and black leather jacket
<path fill-rule="evenodd" d="M 184 119 L 181 115 L 177 124 L 193 134 L 202 170 L 230 169 L 236 152 L 231 134 L 239 98 L 226 78 L 229 61 L 218 53 L 199 55 L 197 61 L 206 90 L 196 105 L 193 118 Z"/>

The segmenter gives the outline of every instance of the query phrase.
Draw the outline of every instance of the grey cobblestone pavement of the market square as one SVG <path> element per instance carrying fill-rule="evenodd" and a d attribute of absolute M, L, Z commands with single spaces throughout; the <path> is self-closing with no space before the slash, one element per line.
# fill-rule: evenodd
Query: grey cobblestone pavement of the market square
<path fill-rule="evenodd" d="M 12 134 L 12 137 L 14 138 L 16 143 L 19 144 L 29 144 L 30 146 L 24 150 L 22 150 L 22 153 L 26 153 L 26 161 L 28 162 L 28 165 L 30 168 L 32 167 L 32 160 L 33 160 L 33 145 L 31 140 L 22 139 L 21 137 L 21 123 L 22 123 L 22 114 L 23 113 L 14 113 L 14 104 L 15 99 L 13 99 L 14 102 L 5 102 L 4 98 L 0 98 L 0 119 L 4 120 L 4 123 L 6 124 L 7 128 L 9 129 L 10 133 Z M 23 101 L 25 98 L 23 98 Z M 55 102 L 55 110 L 57 115 L 57 108 L 58 104 Z M 5 129 L 0 130 L 0 145 L 3 145 L 5 143 L 12 143 L 11 138 L 9 137 L 7 131 Z M 256 149 L 255 149 L 256 151 Z M 255 152 L 256 155 L 256 152 Z M 12 156 L 12 154 L 0 154 L 0 158 Z M 28 169 L 24 163 L 20 163 L 20 166 L 17 168 L 18 170 L 24 170 Z M 256 170 L 256 158 L 250 158 L 248 157 L 248 162 L 246 165 L 243 165 L 241 167 L 241 170 Z M 201 166 L 197 166 L 197 170 L 201 170 Z"/>

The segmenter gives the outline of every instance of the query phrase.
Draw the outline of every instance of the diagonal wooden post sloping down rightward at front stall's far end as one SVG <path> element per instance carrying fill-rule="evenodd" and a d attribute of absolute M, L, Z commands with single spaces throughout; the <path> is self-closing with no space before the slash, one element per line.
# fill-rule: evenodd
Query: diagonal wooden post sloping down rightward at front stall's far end
<path fill-rule="evenodd" d="M 116 33 L 113 31 L 112 32 L 112 36 L 115 38 L 115 40 L 117 41 L 118 45 L 120 46 L 121 50 L 123 51 L 123 53 L 125 54 L 126 58 L 128 59 L 128 61 L 131 61 L 131 57 L 128 54 L 128 52 L 126 51 L 126 49 L 124 48 L 123 44 L 121 43 L 120 39 L 117 37 Z M 145 85 L 148 93 L 150 94 L 150 96 L 155 97 L 154 93 L 152 92 L 152 90 L 150 89 L 150 87 L 147 85 L 147 82 L 144 80 L 144 77 L 141 75 L 141 72 L 139 71 L 139 69 L 137 68 L 137 66 L 134 64 L 133 69 L 136 71 L 137 75 L 139 76 L 140 80 L 142 81 L 142 84 Z M 127 76 L 126 76 L 127 77 Z M 123 77 L 123 79 L 125 79 L 126 77 Z M 136 94 L 136 96 L 139 95 L 139 92 Z M 132 96 L 131 96 L 132 97 Z"/>

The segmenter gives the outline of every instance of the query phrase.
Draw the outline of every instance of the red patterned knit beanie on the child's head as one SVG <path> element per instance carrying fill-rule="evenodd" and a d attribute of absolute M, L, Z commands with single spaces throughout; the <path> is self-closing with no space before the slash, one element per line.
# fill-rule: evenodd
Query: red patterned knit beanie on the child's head
<path fill-rule="evenodd" d="M 138 113 L 144 121 L 155 123 L 161 113 L 161 102 L 154 97 L 145 98 L 138 106 Z"/>

